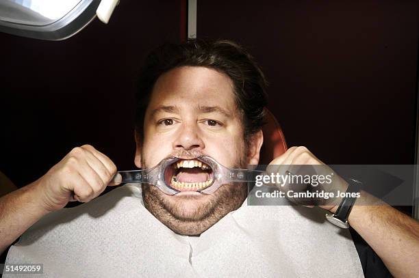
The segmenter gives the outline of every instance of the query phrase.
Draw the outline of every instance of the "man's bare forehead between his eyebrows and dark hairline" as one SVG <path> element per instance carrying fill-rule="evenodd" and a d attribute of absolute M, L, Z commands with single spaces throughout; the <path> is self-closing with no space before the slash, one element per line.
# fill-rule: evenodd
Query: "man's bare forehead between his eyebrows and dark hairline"
<path fill-rule="evenodd" d="M 227 111 L 236 111 L 233 82 L 227 74 L 210 68 L 175 68 L 157 79 L 149 109 L 165 105 L 177 105 L 184 109 L 221 107 Z"/>

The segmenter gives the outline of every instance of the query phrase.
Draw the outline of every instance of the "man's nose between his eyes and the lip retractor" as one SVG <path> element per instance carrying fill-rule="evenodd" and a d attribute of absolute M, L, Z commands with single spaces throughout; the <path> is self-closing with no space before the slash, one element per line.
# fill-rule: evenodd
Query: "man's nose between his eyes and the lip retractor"
<path fill-rule="evenodd" d="M 196 123 L 182 123 L 173 142 L 175 150 L 201 150 L 205 147 Z"/>

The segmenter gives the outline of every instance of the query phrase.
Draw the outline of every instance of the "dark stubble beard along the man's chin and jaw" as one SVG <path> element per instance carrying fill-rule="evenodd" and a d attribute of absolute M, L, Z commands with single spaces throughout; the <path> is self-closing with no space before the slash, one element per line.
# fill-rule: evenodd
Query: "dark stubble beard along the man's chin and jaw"
<path fill-rule="evenodd" d="M 147 164 L 143 161 L 142 165 Z M 242 157 L 234 167 L 245 166 L 245 157 Z M 202 234 L 226 214 L 240 208 L 246 196 L 246 184 L 238 183 L 223 184 L 214 193 L 201 196 L 168 196 L 155 186 L 142 184 L 147 210 L 173 232 L 188 236 Z"/>

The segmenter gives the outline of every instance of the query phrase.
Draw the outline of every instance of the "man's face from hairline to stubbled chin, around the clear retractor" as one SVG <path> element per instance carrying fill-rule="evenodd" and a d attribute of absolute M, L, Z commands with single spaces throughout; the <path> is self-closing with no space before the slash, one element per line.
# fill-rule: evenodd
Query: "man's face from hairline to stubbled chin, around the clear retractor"
<path fill-rule="evenodd" d="M 226 167 L 244 167 L 249 161 L 243 134 L 233 83 L 226 74 L 203 67 L 175 68 L 153 87 L 136 165 L 149 168 L 169 156 L 191 160 L 206 155 Z M 208 178 L 201 169 L 195 170 L 178 169 L 182 172 L 178 180 Z M 171 230 L 196 235 L 240 207 L 246 191 L 244 184 L 225 184 L 207 195 L 196 191 L 166 195 L 145 184 L 143 197 L 150 212 Z"/>

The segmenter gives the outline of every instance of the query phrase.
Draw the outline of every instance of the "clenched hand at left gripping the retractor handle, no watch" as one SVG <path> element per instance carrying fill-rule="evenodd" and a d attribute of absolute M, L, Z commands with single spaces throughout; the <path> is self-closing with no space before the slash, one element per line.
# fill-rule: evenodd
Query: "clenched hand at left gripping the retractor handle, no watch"
<path fill-rule="evenodd" d="M 51 212 L 63 208 L 68 201 L 94 199 L 107 185 L 119 184 L 121 177 L 118 174 L 114 178 L 115 174 L 116 166 L 110 158 L 91 145 L 82 145 L 71 150 L 34 186 L 42 206 Z"/>

